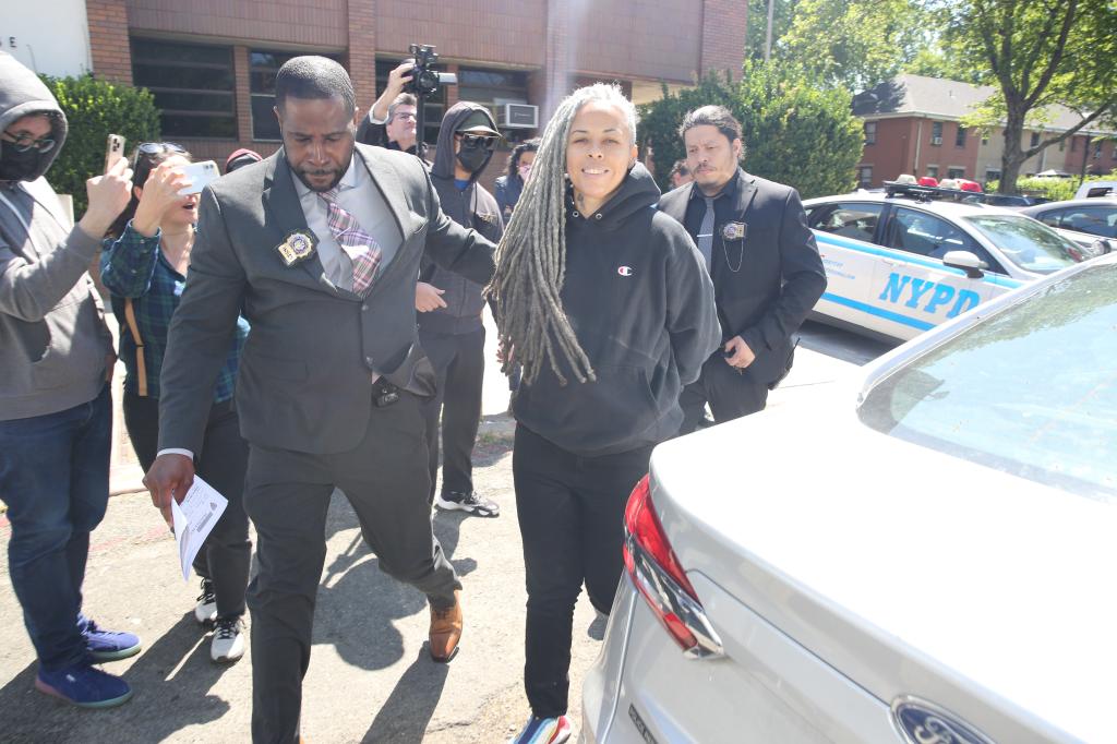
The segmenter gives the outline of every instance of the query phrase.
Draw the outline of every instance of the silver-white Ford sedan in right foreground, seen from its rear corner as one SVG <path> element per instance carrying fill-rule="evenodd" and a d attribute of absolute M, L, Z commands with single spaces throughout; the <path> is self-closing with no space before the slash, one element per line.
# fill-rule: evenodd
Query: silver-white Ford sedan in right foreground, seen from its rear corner
<path fill-rule="evenodd" d="M 1115 361 L 1109 256 L 658 447 L 585 741 L 1115 741 Z"/>

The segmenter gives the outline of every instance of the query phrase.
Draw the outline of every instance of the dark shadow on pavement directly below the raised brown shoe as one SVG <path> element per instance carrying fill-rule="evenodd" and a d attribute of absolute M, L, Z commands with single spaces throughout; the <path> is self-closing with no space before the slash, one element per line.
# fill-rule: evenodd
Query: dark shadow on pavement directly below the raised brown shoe
<path fill-rule="evenodd" d="M 361 740 L 366 744 L 422 742 L 446 686 L 449 665 L 431 661 L 423 646 Z"/>

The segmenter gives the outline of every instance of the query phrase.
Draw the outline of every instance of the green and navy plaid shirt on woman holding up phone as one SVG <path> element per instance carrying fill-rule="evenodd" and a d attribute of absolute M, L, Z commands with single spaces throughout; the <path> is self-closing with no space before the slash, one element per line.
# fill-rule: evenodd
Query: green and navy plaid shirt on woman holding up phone
<path fill-rule="evenodd" d="M 101 254 L 101 280 L 113 293 L 113 314 L 121 324 L 120 356 L 127 371 L 124 389 L 132 393 L 140 389 L 136 379 L 136 344 L 124 316 L 124 298 L 131 297 L 136 326 L 144 344 L 149 398 L 159 398 L 159 373 L 163 369 L 163 354 L 166 352 L 166 332 L 187 283 L 185 277 L 174 270 L 159 249 L 160 237 L 161 233 L 156 232 L 153 237 L 145 238 L 132 229 L 132 223 L 128 222 L 120 238 L 104 241 Z M 248 321 L 241 316 L 237 318 L 232 349 L 229 350 L 229 356 L 213 388 L 214 403 L 232 398 L 237 365 L 247 337 Z"/>

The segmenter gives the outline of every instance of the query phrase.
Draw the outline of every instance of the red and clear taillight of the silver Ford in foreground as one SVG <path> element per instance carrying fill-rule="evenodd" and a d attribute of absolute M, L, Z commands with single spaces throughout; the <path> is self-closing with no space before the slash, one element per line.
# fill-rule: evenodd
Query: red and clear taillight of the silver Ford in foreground
<path fill-rule="evenodd" d="M 632 489 L 624 509 L 624 567 L 687 656 L 722 656 L 722 641 L 656 516 L 648 476 Z"/>

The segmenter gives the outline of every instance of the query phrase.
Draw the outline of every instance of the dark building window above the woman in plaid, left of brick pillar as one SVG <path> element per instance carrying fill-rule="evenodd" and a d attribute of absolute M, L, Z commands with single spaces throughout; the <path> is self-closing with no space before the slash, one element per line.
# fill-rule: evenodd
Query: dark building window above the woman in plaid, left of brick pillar
<path fill-rule="evenodd" d="M 237 139 L 231 47 L 132 39 L 132 78 L 155 96 L 164 137 Z"/>

